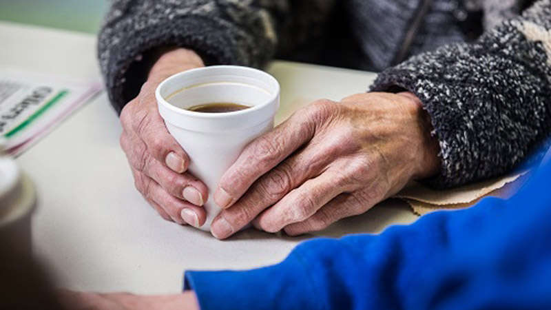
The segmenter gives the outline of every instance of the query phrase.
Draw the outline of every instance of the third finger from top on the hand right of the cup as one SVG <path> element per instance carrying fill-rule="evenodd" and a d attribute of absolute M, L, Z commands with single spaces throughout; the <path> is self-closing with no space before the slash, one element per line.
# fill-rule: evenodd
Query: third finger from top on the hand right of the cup
<path fill-rule="evenodd" d="M 287 225 L 310 218 L 318 209 L 347 189 L 346 180 L 339 174 L 324 172 L 284 196 L 273 207 L 262 212 L 254 222 L 264 231 L 280 231 Z"/>

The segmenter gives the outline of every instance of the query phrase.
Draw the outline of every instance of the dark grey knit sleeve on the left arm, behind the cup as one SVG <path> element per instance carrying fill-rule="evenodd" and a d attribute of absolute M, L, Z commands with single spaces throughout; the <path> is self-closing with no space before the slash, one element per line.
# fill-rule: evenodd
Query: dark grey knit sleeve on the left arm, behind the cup
<path fill-rule="evenodd" d="M 98 38 L 98 57 L 110 100 L 120 112 L 132 99 L 125 88 L 138 90 L 143 83 L 140 80 L 145 81 L 143 70 L 152 65 L 144 60 L 147 52 L 166 45 L 195 50 L 207 64 L 260 67 L 278 48 L 300 45 L 301 40 L 317 34 L 332 3 L 114 0 Z M 140 63 L 136 66 L 136 62 Z M 137 67 L 137 72 L 129 70 L 131 66 Z"/>

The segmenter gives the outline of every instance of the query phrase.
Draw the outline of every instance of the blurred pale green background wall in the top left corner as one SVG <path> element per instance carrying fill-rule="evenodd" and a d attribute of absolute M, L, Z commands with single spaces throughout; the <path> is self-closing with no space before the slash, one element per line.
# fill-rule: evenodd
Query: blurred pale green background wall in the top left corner
<path fill-rule="evenodd" d="M 97 32 L 107 0 L 0 0 L 0 20 Z"/>

